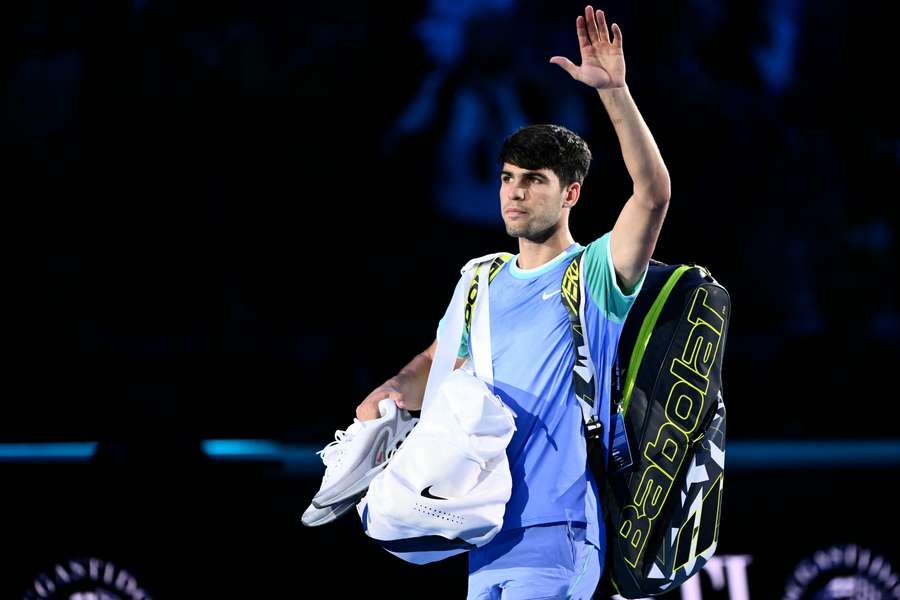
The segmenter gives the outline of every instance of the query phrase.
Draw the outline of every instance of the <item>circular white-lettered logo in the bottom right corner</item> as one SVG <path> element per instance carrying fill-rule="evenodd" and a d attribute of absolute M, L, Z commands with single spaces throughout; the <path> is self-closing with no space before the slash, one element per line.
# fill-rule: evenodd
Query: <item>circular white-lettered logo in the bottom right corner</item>
<path fill-rule="evenodd" d="M 832 546 L 797 565 L 782 600 L 900 600 L 900 575 L 867 548 Z"/>

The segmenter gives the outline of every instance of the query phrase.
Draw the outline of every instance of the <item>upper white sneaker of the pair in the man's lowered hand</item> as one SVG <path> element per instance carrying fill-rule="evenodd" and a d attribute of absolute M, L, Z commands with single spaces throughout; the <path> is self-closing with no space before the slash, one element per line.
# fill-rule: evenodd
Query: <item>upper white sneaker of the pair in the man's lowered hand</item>
<path fill-rule="evenodd" d="M 419 422 L 390 398 L 378 403 L 378 412 L 381 417 L 371 421 L 353 419 L 346 431 L 336 431 L 334 441 L 317 453 L 325 463 L 325 475 L 312 500 L 315 508 L 364 493 Z"/>

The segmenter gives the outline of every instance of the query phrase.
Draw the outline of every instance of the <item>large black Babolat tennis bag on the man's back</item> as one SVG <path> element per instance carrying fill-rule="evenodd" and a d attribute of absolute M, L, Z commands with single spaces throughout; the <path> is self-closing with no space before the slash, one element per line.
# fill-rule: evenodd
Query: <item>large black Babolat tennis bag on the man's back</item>
<path fill-rule="evenodd" d="M 703 267 L 651 261 L 625 322 L 604 507 L 606 575 L 625 598 L 679 586 L 716 550 L 730 305 Z"/>

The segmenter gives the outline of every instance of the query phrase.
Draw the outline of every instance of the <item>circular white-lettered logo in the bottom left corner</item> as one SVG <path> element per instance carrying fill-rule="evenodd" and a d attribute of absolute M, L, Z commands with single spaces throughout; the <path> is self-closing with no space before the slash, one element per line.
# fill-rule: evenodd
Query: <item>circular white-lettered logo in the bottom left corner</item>
<path fill-rule="evenodd" d="M 34 578 L 24 600 L 153 600 L 125 569 L 99 558 L 60 562 Z"/>

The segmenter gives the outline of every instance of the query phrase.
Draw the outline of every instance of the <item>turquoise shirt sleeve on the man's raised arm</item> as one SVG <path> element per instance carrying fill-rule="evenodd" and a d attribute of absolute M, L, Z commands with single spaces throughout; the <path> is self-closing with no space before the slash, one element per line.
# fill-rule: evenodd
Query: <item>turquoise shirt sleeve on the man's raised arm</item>
<path fill-rule="evenodd" d="M 585 288 L 594 304 L 600 308 L 607 319 L 615 323 L 622 323 L 644 285 L 647 267 L 644 267 L 644 272 L 634 289 L 626 294 L 619 288 L 616 269 L 612 263 L 612 254 L 609 250 L 611 237 L 611 232 L 607 232 L 588 244 L 582 262 L 583 276 Z"/>

